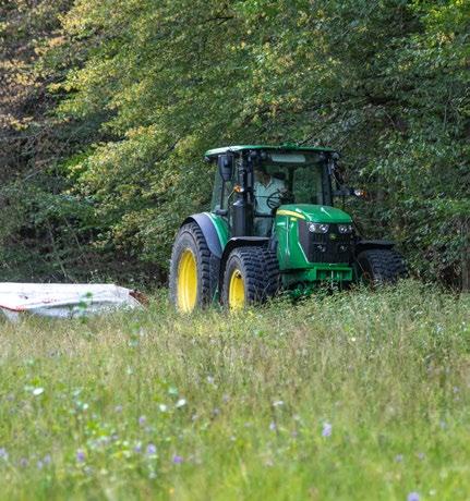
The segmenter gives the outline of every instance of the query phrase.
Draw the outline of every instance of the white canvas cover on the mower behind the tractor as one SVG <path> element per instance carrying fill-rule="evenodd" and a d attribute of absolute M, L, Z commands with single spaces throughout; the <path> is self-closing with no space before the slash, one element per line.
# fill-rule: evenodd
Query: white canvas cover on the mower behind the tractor
<path fill-rule="evenodd" d="M 115 308 L 138 308 L 130 289 L 101 283 L 0 283 L 0 309 L 11 320 L 24 313 L 44 317 L 88 316 Z"/>

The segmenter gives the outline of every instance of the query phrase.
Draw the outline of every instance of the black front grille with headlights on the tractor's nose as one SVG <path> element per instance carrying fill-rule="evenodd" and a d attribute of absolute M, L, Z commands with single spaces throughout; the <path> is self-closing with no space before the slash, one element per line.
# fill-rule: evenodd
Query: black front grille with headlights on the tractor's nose
<path fill-rule="evenodd" d="M 308 223 L 299 221 L 299 240 L 310 262 L 352 262 L 354 236 L 339 233 L 337 224 L 329 224 L 328 233 L 311 233 Z"/>

